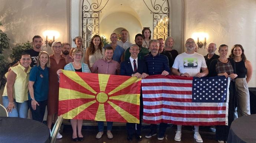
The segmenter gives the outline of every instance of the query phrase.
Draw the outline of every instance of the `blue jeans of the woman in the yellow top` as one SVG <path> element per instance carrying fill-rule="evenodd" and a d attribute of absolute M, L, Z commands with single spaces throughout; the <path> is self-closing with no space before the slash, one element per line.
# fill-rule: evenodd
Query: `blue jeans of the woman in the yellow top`
<path fill-rule="evenodd" d="M 5 108 L 8 107 L 9 99 L 8 96 L 3 96 L 3 105 Z M 14 99 L 15 109 L 12 109 L 12 112 L 8 113 L 9 117 L 19 117 L 19 118 L 27 118 L 27 112 L 29 110 L 29 105 L 27 101 L 23 103 L 16 102 Z"/>

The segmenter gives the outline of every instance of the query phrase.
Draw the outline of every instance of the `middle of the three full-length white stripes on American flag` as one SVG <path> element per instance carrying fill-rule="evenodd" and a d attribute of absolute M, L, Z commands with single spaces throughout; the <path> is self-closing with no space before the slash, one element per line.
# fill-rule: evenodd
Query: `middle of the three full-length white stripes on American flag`
<path fill-rule="evenodd" d="M 219 111 L 209 111 L 209 110 L 179 110 L 179 109 L 167 109 L 167 108 L 159 108 L 159 109 L 143 109 L 145 113 L 159 113 L 159 112 L 167 112 L 167 113 L 175 113 L 175 114 L 226 114 L 226 110 Z"/>

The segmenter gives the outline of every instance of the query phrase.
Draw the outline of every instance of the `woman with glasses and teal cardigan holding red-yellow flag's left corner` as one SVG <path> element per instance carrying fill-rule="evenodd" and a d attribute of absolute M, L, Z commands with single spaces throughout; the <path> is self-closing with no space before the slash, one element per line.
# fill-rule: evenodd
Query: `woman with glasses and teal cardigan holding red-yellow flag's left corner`
<path fill-rule="evenodd" d="M 64 67 L 64 70 L 78 71 L 78 72 L 83 72 L 83 73 L 91 73 L 88 65 L 86 63 L 81 62 L 82 56 L 83 56 L 82 50 L 80 50 L 80 49 L 73 50 L 72 57 L 74 59 L 74 62 L 68 63 Z M 59 69 L 57 71 L 57 74 L 59 75 L 59 73 L 61 73 L 61 72 L 62 71 Z M 83 120 L 82 119 L 70 119 L 70 122 L 71 122 L 71 126 L 73 129 L 72 140 L 74 142 L 78 142 L 78 140 L 83 141 L 83 135 L 82 135 Z M 78 129 L 78 133 L 76 133 L 76 129 Z"/>

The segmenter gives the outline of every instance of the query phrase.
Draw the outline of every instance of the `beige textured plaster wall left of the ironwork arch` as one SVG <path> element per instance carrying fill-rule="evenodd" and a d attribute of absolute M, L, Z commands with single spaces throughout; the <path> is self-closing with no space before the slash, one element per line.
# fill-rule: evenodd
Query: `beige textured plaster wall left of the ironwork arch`
<path fill-rule="evenodd" d="M 66 0 L 0 0 L 0 21 L 11 45 L 32 41 L 34 35 L 43 37 L 46 30 L 60 33 L 55 41 L 67 41 Z M 45 48 L 45 43 L 42 48 Z M 48 46 L 49 48 L 49 46 Z"/>

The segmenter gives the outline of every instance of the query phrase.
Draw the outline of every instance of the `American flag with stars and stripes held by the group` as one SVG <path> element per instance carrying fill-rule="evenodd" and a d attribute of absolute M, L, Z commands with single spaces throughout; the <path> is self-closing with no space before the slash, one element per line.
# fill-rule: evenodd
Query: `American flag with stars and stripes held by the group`
<path fill-rule="evenodd" d="M 145 123 L 227 125 L 230 78 L 148 76 L 142 80 Z"/>

